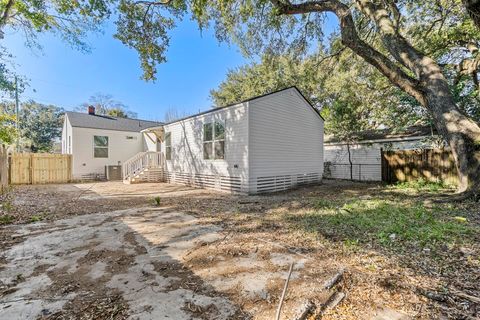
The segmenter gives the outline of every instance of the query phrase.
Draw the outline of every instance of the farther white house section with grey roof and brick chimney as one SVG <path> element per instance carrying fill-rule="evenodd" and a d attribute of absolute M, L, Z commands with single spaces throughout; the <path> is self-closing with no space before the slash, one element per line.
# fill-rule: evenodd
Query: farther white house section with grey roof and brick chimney
<path fill-rule="evenodd" d="M 143 130 L 160 122 L 66 112 L 62 130 L 62 153 L 73 157 L 74 179 L 105 178 L 105 166 L 121 165 L 139 152 L 157 151 L 157 138 Z"/>

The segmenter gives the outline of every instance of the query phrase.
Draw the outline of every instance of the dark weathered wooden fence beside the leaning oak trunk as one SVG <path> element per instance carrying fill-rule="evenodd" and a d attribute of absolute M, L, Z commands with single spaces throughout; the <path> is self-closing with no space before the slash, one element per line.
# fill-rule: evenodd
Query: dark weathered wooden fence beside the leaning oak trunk
<path fill-rule="evenodd" d="M 457 169 L 447 149 L 382 150 L 382 180 L 388 183 L 426 181 L 457 184 Z"/>

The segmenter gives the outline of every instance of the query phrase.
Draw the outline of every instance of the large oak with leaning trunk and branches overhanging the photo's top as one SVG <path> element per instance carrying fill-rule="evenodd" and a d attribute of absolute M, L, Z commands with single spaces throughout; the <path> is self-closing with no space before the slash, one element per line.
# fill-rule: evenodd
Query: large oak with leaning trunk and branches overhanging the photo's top
<path fill-rule="evenodd" d="M 410 29 L 422 15 L 439 16 L 420 29 L 425 38 L 431 37 L 430 27 L 441 35 L 445 26 L 464 23 L 475 27 L 469 28 L 474 30 L 469 43 L 477 45 L 478 11 L 476 0 L 4 0 L 0 29 L 12 25 L 30 31 L 56 30 L 75 42 L 114 13 L 115 37 L 137 50 L 143 77 L 152 80 L 156 65 L 166 61 L 169 30 L 182 18 L 195 19 L 200 28 L 212 25 L 220 41 L 236 42 L 247 55 L 302 55 L 322 41 L 327 13 L 334 15 L 342 44 L 429 112 L 454 155 L 459 191 L 478 195 L 480 127 L 455 101 L 439 59 L 442 48 L 422 47 L 421 37 L 412 37 Z M 463 34 L 463 29 L 459 32 Z M 475 58 L 475 52 L 467 54 Z"/>

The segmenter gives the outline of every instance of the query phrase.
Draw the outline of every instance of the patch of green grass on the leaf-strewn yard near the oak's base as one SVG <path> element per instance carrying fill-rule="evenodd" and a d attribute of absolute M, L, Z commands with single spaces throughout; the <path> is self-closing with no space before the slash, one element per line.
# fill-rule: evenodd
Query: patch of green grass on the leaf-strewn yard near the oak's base
<path fill-rule="evenodd" d="M 420 244 L 433 248 L 461 243 L 480 231 L 441 208 L 379 199 L 353 200 L 340 208 L 291 215 L 289 220 L 307 232 L 342 241 L 346 247 L 373 241 L 381 246 Z"/>

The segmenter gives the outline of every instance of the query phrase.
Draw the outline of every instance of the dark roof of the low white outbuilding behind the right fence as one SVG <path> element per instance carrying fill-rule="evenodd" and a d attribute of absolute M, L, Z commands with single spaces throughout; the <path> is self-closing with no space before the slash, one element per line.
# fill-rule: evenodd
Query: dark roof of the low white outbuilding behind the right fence
<path fill-rule="evenodd" d="M 372 141 L 372 140 L 401 140 L 405 138 L 425 137 L 437 134 L 432 126 L 411 126 L 402 131 L 394 131 L 393 129 L 381 130 L 365 130 L 355 132 L 353 137 L 356 141 Z M 326 135 L 325 143 L 341 143 L 343 140 L 335 135 Z"/>

